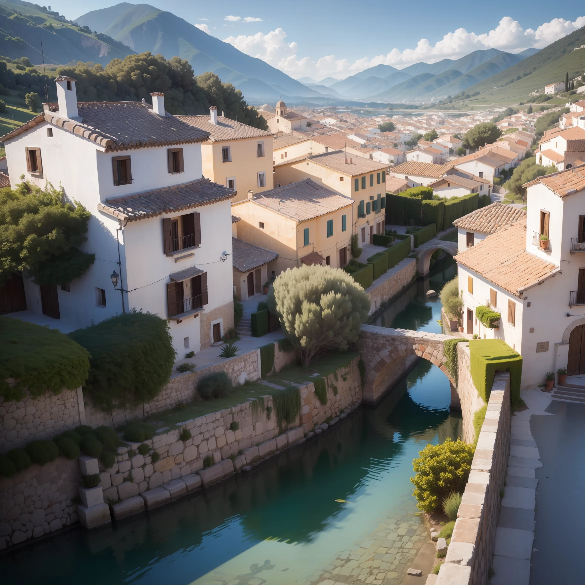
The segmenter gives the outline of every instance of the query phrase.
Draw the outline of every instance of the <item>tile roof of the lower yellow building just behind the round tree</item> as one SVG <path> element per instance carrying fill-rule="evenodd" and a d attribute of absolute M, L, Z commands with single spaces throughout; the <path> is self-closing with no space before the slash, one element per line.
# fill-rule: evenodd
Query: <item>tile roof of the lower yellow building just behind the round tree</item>
<path fill-rule="evenodd" d="M 250 199 L 244 199 L 236 202 L 233 204 L 234 211 L 237 211 L 238 205 L 249 201 Z M 352 198 L 340 195 L 310 178 L 254 194 L 252 201 L 297 222 L 326 215 L 353 204 Z M 351 213 L 351 209 L 348 212 Z"/>

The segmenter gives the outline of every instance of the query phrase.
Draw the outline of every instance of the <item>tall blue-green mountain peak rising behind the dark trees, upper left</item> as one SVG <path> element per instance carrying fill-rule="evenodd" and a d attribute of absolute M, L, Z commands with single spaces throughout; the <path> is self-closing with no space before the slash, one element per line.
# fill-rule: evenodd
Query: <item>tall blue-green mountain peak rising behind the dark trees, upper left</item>
<path fill-rule="evenodd" d="M 195 75 L 212 71 L 252 102 L 263 103 L 280 95 L 283 99 L 322 95 L 266 61 L 250 57 L 173 13 L 149 4 L 117 4 L 88 12 L 77 22 L 113 37 L 136 53 L 150 51 L 167 59 L 175 55 L 186 59 Z"/>

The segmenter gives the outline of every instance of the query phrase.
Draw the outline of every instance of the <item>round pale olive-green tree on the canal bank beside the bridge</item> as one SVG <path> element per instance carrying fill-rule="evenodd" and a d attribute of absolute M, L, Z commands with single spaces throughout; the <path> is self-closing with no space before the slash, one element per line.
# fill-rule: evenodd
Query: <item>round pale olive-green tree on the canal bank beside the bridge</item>
<path fill-rule="evenodd" d="M 319 265 L 281 273 L 270 288 L 268 304 L 304 366 L 357 341 L 370 310 L 368 296 L 352 276 Z"/>

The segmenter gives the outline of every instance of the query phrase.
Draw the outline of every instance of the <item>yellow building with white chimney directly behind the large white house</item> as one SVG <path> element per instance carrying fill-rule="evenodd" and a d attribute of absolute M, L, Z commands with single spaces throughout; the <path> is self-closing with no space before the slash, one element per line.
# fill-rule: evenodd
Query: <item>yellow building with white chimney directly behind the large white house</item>
<path fill-rule="evenodd" d="M 238 191 L 233 201 L 250 190 L 273 188 L 273 133 L 218 116 L 215 106 L 209 111 L 209 116 L 176 116 L 211 135 L 201 144 L 203 176 Z"/>

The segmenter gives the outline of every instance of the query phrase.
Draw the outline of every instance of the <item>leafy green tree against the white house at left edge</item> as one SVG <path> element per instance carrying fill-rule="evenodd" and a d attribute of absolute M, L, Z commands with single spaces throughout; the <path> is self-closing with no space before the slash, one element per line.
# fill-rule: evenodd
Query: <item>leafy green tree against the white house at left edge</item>
<path fill-rule="evenodd" d="M 95 254 L 81 252 L 90 212 L 66 201 L 48 181 L 0 191 L 0 285 L 26 270 L 35 284 L 66 284 L 81 277 Z"/>

